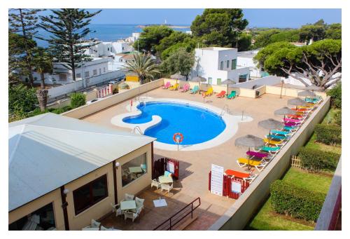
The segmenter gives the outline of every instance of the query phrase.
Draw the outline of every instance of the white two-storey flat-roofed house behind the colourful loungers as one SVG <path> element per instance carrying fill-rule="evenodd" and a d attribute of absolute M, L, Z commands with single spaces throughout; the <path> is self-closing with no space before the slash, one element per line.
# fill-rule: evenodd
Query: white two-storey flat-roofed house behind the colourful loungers
<path fill-rule="evenodd" d="M 244 82 L 249 79 L 249 68 L 237 66 L 237 48 L 197 48 L 195 49 L 195 65 L 190 77 L 202 76 L 207 83 L 220 85 L 230 78 Z"/>

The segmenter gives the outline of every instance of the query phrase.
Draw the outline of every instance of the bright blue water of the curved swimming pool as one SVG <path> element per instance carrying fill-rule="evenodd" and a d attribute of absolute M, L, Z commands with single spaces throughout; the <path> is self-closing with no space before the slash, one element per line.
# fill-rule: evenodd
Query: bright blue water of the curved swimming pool
<path fill-rule="evenodd" d="M 125 123 L 147 123 L 153 115 L 162 121 L 144 134 L 157 138 L 158 142 L 176 144 L 173 135 L 183 134 L 182 145 L 200 144 L 220 135 L 226 125 L 220 116 L 207 109 L 173 102 L 148 102 L 137 107 L 142 114 L 123 118 Z"/>

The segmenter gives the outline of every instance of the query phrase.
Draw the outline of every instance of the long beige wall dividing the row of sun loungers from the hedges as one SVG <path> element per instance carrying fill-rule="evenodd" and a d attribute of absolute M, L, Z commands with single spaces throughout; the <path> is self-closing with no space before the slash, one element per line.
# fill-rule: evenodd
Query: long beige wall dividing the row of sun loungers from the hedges
<path fill-rule="evenodd" d="M 295 135 L 283 146 L 248 189 L 208 230 L 242 230 L 254 213 L 269 195 L 269 186 L 288 170 L 290 156 L 295 155 L 307 142 L 317 123 L 321 122 L 330 107 L 330 97 L 318 105 L 307 121 Z"/>

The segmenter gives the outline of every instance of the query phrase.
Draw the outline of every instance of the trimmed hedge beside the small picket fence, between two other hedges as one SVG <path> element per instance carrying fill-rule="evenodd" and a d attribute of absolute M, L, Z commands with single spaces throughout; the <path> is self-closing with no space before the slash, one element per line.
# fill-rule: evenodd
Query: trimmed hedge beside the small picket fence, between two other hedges
<path fill-rule="evenodd" d="M 309 170 L 335 170 L 340 158 L 339 153 L 307 149 L 302 147 L 299 152 L 302 168 Z"/>

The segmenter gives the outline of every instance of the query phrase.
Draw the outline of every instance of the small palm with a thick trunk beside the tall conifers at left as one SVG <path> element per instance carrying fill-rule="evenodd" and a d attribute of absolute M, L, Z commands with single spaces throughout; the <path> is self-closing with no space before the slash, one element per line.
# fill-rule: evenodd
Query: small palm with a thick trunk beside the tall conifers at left
<path fill-rule="evenodd" d="M 45 48 L 36 48 L 33 56 L 33 64 L 41 78 L 41 88 L 36 90 L 36 97 L 38 97 L 41 111 L 45 111 L 48 102 L 48 90 L 45 90 L 45 73 L 52 73 L 52 57 L 46 52 Z"/>

